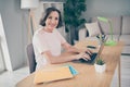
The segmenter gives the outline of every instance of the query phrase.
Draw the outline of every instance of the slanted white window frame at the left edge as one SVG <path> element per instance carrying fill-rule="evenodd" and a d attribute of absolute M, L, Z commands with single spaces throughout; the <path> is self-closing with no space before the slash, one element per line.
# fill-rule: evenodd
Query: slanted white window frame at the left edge
<path fill-rule="evenodd" d="M 8 70 L 12 71 L 9 48 L 8 48 L 8 44 L 6 44 L 2 17 L 0 14 L 0 65 L 1 65 L 1 69 L 3 69 L 3 70 L 5 70 L 4 64 L 5 64 Z"/>

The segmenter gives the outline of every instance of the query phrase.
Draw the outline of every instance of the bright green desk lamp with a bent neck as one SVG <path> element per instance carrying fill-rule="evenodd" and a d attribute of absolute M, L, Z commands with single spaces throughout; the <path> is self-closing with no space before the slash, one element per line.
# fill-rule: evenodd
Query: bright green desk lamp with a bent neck
<path fill-rule="evenodd" d="M 116 45 L 116 41 L 114 41 L 114 38 L 113 38 L 113 26 L 112 26 L 112 22 L 110 22 L 108 18 L 106 18 L 106 17 L 101 17 L 101 16 L 99 16 L 98 20 L 109 24 L 110 40 L 106 41 L 106 42 L 105 42 L 105 46 L 115 46 L 115 45 Z"/>

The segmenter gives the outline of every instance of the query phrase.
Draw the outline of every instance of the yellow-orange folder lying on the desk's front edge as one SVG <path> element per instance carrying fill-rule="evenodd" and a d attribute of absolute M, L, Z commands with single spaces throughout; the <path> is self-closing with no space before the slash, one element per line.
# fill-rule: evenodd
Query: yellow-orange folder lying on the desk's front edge
<path fill-rule="evenodd" d="M 69 66 L 50 67 L 36 71 L 34 84 L 73 78 Z"/>

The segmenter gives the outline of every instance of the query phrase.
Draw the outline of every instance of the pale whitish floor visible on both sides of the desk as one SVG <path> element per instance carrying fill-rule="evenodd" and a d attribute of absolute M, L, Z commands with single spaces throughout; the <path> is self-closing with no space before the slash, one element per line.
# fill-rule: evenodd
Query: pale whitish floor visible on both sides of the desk
<path fill-rule="evenodd" d="M 15 84 L 29 75 L 28 66 L 14 72 L 0 74 L 0 87 L 15 87 Z M 112 87 L 118 87 L 117 73 L 115 73 Z M 121 87 L 130 87 L 130 55 L 121 55 Z"/>

